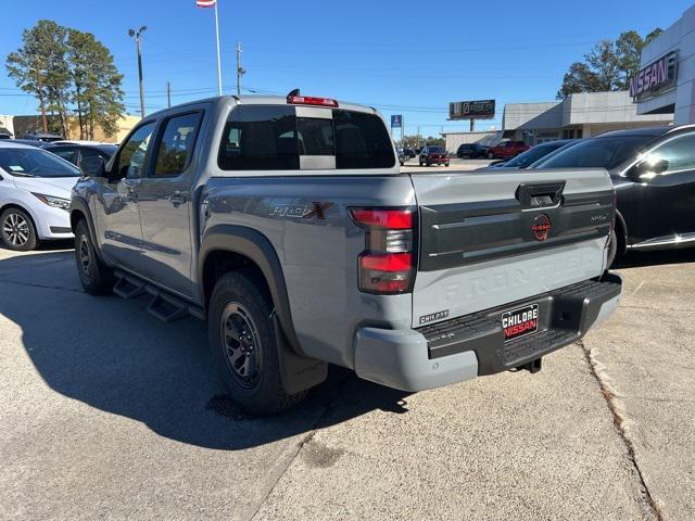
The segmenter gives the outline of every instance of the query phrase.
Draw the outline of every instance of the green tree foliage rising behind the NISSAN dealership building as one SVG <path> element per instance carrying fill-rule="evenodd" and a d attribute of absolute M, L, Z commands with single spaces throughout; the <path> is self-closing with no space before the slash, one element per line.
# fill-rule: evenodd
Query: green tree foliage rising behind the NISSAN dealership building
<path fill-rule="evenodd" d="M 628 80 L 640 72 L 644 46 L 662 33 L 656 28 L 645 38 L 639 33 L 621 33 L 617 40 L 603 40 L 584 54 L 583 62 L 572 63 L 557 92 L 561 100 L 576 92 L 605 92 L 628 89 Z"/>

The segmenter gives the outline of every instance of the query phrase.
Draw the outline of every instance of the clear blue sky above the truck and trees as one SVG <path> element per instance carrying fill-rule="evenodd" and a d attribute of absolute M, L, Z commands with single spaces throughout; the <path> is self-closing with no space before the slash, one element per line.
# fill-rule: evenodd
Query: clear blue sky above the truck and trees
<path fill-rule="evenodd" d="M 214 11 L 194 0 L 24 0 L 3 2 L 0 59 L 21 45 L 22 29 L 40 18 L 93 33 L 125 75 L 128 112 L 138 112 L 135 43 L 128 28 L 148 26 L 143 40 L 146 105 L 214 96 L 217 86 Z M 248 69 L 242 86 L 262 92 L 327 96 L 403 114 L 406 134 L 466 129 L 447 122 L 450 101 L 553 100 L 567 66 L 622 30 L 666 28 L 692 4 L 668 0 L 563 2 L 390 2 L 219 0 L 225 92 L 235 88 L 237 40 Z M 9 23 L 11 22 L 11 23 Z M 0 114 L 31 114 L 37 102 L 0 68 Z"/>

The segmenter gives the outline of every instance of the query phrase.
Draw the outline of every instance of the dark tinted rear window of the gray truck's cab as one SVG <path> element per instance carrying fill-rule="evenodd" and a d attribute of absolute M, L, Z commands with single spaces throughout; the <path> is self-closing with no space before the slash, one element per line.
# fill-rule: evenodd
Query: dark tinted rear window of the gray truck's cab
<path fill-rule="evenodd" d="M 336 169 L 390 168 L 389 132 L 375 114 L 333 109 L 302 117 L 292 105 L 241 105 L 225 126 L 217 164 L 223 170 L 298 170 L 300 157 L 324 156 Z"/>

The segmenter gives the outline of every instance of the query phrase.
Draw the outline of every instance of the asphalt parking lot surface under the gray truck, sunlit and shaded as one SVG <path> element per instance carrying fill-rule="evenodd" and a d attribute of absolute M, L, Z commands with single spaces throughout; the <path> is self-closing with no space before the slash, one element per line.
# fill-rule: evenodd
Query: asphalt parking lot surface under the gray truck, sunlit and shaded
<path fill-rule="evenodd" d="M 408 395 L 331 369 L 270 419 L 205 326 L 0 250 L 0 519 L 693 519 L 695 251 L 631 255 L 619 312 L 543 370 Z"/>

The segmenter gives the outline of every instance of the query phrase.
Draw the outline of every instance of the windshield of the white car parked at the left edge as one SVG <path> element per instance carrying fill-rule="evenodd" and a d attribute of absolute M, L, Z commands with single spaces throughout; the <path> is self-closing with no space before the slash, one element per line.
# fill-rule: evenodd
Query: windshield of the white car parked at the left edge
<path fill-rule="evenodd" d="M 17 177 L 80 177 L 65 160 L 41 149 L 0 149 L 0 168 Z"/>

